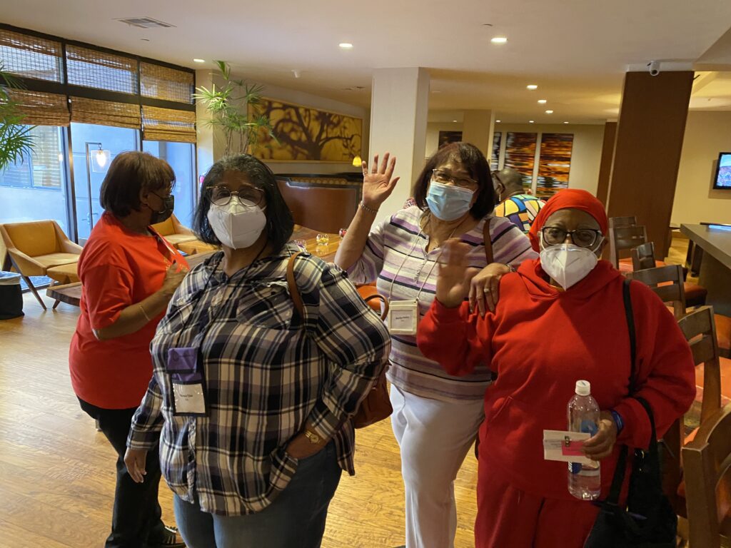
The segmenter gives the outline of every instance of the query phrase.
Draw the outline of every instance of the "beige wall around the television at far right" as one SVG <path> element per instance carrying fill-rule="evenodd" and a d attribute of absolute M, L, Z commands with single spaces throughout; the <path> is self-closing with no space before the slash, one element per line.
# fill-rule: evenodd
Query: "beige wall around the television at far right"
<path fill-rule="evenodd" d="M 689 113 L 671 222 L 731 223 L 731 191 L 711 188 L 719 152 L 731 152 L 731 113 Z"/>

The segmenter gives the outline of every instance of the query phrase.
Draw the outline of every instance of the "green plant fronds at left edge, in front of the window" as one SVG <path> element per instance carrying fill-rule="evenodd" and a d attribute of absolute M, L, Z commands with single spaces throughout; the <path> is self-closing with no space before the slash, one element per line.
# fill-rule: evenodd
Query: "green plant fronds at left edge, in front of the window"
<path fill-rule="evenodd" d="M 23 161 L 33 151 L 33 126 L 23 126 L 25 116 L 18 111 L 11 91 L 23 88 L 22 83 L 5 70 L 0 61 L 0 172 Z"/>

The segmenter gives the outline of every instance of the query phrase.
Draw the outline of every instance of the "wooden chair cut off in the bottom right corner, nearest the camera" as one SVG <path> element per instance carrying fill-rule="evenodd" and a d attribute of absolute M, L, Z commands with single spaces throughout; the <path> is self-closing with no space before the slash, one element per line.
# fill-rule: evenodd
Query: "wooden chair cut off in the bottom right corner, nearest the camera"
<path fill-rule="evenodd" d="M 691 547 L 721 548 L 731 537 L 731 404 L 708 417 L 683 447 Z"/>

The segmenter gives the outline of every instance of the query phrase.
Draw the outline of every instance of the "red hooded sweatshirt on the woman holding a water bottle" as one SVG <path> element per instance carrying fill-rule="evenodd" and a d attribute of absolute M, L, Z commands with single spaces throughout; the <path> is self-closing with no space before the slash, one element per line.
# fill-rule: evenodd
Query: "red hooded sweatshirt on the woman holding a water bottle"
<path fill-rule="evenodd" d="M 480 464 L 496 468 L 519 489 L 575 500 L 567 490 L 567 464 L 543 460 L 543 430 L 567 430 L 575 383 L 586 379 L 602 410 L 624 419 L 613 455 L 602 460 L 602 496 L 612 481 L 620 444 L 646 447 L 650 422 L 628 397 L 629 331 L 624 277 L 609 262 L 567 291 L 551 286 L 539 259 L 505 275 L 495 313 L 480 318 L 468 303 L 445 308 L 435 300 L 419 324 L 423 354 L 451 375 L 491 363 L 498 379 L 485 392 Z M 631 286 L 637 333 L 637 395 L 654 411 L 658 435 L 688 410 L 695 396 L 688 343 L 659 297 L 642 283 Z"/>

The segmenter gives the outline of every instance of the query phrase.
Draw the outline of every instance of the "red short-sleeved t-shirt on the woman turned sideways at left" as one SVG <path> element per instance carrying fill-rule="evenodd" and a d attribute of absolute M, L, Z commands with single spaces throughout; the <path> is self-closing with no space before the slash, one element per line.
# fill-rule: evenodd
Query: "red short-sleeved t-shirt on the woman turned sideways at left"
<path fill-rule="evenodd" d="M 152 378 L 150 341 L 164 313 L 118 338 L 98 340 L 92 330 L 158 291 L 171 261 L 187 267 L 162 236 L 130 232 L 108 212 L 94 226 L 79 257 L 81 315 L 69 349 L 71 384 L 82 400 L 105 409 L 140 405 Z"/>

